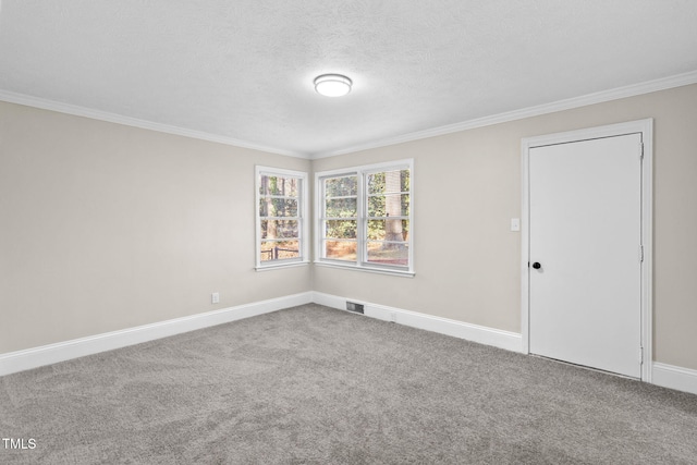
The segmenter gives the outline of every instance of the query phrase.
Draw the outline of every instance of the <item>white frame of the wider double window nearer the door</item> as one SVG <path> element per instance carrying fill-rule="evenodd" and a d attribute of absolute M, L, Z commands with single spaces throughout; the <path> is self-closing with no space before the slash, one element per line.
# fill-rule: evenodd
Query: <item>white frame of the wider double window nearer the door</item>
<path fill-rule="evenodd" d="M 407 244 L 407 260 L 406 266 L 400 265 L 384 265 L 368 261 L 368 248 L 367 244 L 370 242 L 368 238 L 368 222 L 374 218 L 368 216 L 368 198 L 376 194 L 368 192 L 367 179 L 368 175 L 386 172 L 386 171 L 409 171 L 409 203 L 406 220 L 408 221 L 408 235 L 404 241 Z M 348 261 L 338 258 L 325 257 L 325 222 L 329 221 L 325 215 L 326 209 L 326 194 L 325 194 L 325 180 L 331 178 L 341 176 L 356 176 L 357 179 L 357 192 L 356 192 L 356 260 Z M 414 277 L 414 160 L 404 159 L 395 160 L 375 164 L 364 164 L 359 167 L 347 167 L 338 170 L 320 171 L 315 173 L 315 221 L 314 221 L 314 262 L 319 266 L 354 269 L 368 272 L 377 272 L 383 274 L 395 274 L 403 277 Z M 401 216 L 403 217 L 403 216 Z M 333 217 L 332 217 L 333 218 Z"/>

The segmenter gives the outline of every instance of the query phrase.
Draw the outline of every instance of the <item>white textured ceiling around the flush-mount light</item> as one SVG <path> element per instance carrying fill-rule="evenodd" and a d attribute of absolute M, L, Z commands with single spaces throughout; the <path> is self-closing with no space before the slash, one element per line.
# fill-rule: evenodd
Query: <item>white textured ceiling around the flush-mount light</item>
<path fill-rule="evenodd" d="M 310 158 L 696 70 L 697 0 L 0 0 L 0 98 Z"/>

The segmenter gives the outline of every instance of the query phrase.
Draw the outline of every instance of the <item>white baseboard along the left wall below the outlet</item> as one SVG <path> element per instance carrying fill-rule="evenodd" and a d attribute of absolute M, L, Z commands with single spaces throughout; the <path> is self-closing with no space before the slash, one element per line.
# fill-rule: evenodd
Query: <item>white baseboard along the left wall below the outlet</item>
<path fill-rule="evenodd" d="M 313 293 L 304 292 L 285 297 L 271 298 L 220 310 L 207 311 L 205 314 L 144 325 L 121 331 L 112 331 L 59 342 L 57 344 L 10 352 L 0 355 L 0 376 L 236 321 L 243 318 L 255 317 L 283 308 L 309 304 L 310 302 L 313 302 Z"/>

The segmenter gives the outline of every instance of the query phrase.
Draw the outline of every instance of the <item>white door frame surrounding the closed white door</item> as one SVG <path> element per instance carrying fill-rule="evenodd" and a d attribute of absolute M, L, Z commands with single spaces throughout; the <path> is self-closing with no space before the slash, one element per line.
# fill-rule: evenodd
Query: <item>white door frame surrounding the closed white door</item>
<path fill-rule="evenodd" d="M 651 382 L 653 362 L 653 306 L 652 306 L 652 277 L 653 269 L 653 238 L 652 238 L 652 175 L 653 175 L 653 119 L 629 121 L 626 123 L 606 126 L 589 127 L 565 133 L 548 134 L 535 137 L 525 137 L 521 142 L 523 154 L 523 208 L 521 218 L 522 232 L 522 260 L 521 260 L 521 308 L 523 338 L 523 353 L 530 353 L 530 301 L 529 301 L 529 261 L 530 261 L 530 227 L 529 227 L 529 150 L 535 147 L 552 144 L 563 144 L 586 139 L 612 137 L 625 134 L 641 133 L 644 157 L 641 163 L 641 243 L 644 246 L 644 260 L 641 261 L 641 350 L 637 353 L 641 364 L 641 381 Z M 637 154 L 639 157 L 639 154 Z M 637 250 L 638 259 L 639 250 Z"/>

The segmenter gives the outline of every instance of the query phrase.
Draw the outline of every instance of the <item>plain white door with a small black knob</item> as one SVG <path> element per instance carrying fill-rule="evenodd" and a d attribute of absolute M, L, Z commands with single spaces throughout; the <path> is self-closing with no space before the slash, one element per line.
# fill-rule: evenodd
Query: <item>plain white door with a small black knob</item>
<path fill-rule="evenodd" d="M 529 350 L 641 375 L 641 135 L 529 150 Z"/>

